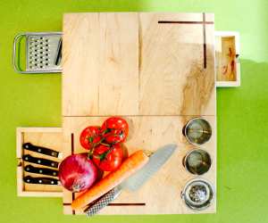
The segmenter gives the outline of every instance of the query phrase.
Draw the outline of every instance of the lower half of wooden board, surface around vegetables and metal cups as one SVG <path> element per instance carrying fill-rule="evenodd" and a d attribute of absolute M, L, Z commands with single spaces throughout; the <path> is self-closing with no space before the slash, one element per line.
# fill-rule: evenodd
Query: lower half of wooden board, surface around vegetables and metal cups
<path fill-rule="evenodd" d="M 89 125 L 100 125 L 108 117 L 65 117 L 63 118 L 63 151 L 69 154 L 73 148 L 73 153 L 84 153 L 85 150 L 80 145 L 80 132 Z M 124 192 L 114 203 L 130 204 L 126 206 L 109 206 L 102 214 L 171 214 L 171 213 L 193 213 L 180 199 L 180 192 L 186 182 L 195 176 L 188 173 L 182 165 L 183 157 L 195 145 L 189 145 L 182 135 L 182 128 L 193 116 L 165 116 L 161 119 L 156 116 L 128 116 L 124 117 L 130 123 L 130 136 L 125 145 L 129 153 L 138 149 L 155 151 L 158 147 L 167 144 L 178 145 L 177 151 L 172 155 L 171 160 L 164 164 L 147 184 L 135 193 Z M 216 128 L 213 116 L 204 116 L 213 128 L 212 138 L 202 148 L 212 157 L 211 169 L 202 176 L 213 183 L 215 190 L 216 179 Z M 72 147 L 72 148 L 71 148 Z M 160 193 L 161 192 L 161 193 Z M 215 191 L 214 191 L 215 193 Z M 71 194 L 63 189 L 64 212 L 71 214 L 70 203 L 78 194 Z M 145 203 L 144 207 L 135 204 Z M 132 204 L 132 205 L 131 205 Z M 128 211 L 127 211 L 128 210 Z M 202 212 L 215 211 L 213 205 Z M 76 214 L 82 211 L 76 211 Z"/>

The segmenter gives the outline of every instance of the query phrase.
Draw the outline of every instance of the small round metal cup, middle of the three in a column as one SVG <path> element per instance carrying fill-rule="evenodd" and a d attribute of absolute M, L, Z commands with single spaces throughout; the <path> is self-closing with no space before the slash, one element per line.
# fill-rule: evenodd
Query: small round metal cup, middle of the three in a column
<path fill-rule="evenodd" d="M 193 149 L 183 159 L 183 166 L 191 174 L 203 175 L 211 168 L 211 157 L 202 149 Z"/>

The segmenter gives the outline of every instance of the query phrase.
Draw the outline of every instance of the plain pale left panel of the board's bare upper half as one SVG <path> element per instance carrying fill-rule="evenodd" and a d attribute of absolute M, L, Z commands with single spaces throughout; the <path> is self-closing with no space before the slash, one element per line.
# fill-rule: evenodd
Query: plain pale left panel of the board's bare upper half
<path fill-rule="evenodd" d="M 63 22 L 63 116 L 137 114 L 138 13 Z"/>

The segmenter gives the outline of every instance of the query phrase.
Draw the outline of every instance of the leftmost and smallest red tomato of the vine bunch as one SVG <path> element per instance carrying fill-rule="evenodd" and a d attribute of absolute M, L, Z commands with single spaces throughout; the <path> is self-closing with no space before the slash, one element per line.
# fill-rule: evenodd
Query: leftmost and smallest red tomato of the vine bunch
<path fill-rule="evenodd" d="M 90 150 L 101 141 L 101 128 L 89 126 L 80 134 L 80 145 L 85 149 Z"/>

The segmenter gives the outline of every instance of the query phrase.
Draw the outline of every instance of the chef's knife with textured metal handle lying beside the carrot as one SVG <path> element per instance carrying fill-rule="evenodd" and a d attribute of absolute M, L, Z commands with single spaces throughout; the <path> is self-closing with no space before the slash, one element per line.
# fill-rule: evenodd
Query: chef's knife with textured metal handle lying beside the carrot
<path fill-rule="evenodd" d="M 156 152 L 150 156 L 149 161 L 142 169 L 123 181 L 119 186 L 115 186 L 96 203 L 89 206 L 88 209 L 85 210 L 88 217 L 95 215 L 98 211 L 105 208 L 105 206 L 107 206 L 110 202 L 113 202 L 113 200 L 121 194 L 123 189 L 128 189 L 130 191 L 138 190 L 138 188 L 145 184 L 147 180 L 163 166 L 165 161 L 171 157 L 176 147 L 177 145 L 164 145 L 156 150 Z"/>

